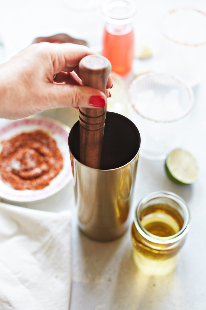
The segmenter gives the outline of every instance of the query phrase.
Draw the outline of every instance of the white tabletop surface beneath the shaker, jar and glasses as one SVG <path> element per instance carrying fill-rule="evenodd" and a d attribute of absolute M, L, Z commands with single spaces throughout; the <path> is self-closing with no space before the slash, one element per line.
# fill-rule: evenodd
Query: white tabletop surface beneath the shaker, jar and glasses
<path fill-rule="evenodd" d="M 69 1 L 69 0 L 68 0 Z M 196 7 L 206 11 L 204 0 L 145 0 L 137 2 L 136 36 L 155 41 L 159 17 L 175 7 Z M 86 14 L 65 10 L 57 0 L 1 1 L 0 34 L 6 48 L 5 60 L 28 46 L 37 36 L 67 32 L 84 38 Z M 94 12 L 90 13 L 93 14 Z M 95 13 L 97 18 L 100 14 Z M 96 27 L 102 32 L 103 21 Z M 88 24 L 88 27 L 90 25 Z M 89 32 L 89 31 L 88 31 Z M 78 35 L 79 34 L 79 35 Z M 87 33 L 88 38 L 91 34 Z M 151 41 L 150 41 L 151 40 Z M 92 41 L 92 39 L 91 39 Z M 94 44 L 95 42 L 91 42 Z M 99 43 L 99 42 L 98 42 Z M 206 68 L 206 67 L 205 67 Z M 206 70 L 205 70 L 206 72 Z M 44 201 L 20 204 L 28 208 L 55 211 L 73 209 L 72 257 L 73 282 L 71 310 L 200 310 L 206 308 L 206 74 L 195 87 L 195 106 L 187 129 L 183 148 L 190 151 L 200 166 L 198 180 L 191 186 L 179 186 L 167 179 L 164 162 L 146 160 L 140 156 L 132 215 L 135 205 L 146 193 L 156 190 L 172 191 L 183 197 L 191 212 L 192 225 L 180 252 L 177 269 L 167 276 L 146 276 L 138 271 L 132 259 L 130 229 L 116 241 L 99 243 L 79 232 L 76 223 L 72 182 L 61 192 Z M 71 108 L 45 111 L 43 115 L 65 122 L 70 127 L 78 120 Z M 0 120 L 0 125 L 4 124 Z M 131 219 L 132 224 L 132 219 Z M 23 296 L 22 296 L 23 297 Z"/>

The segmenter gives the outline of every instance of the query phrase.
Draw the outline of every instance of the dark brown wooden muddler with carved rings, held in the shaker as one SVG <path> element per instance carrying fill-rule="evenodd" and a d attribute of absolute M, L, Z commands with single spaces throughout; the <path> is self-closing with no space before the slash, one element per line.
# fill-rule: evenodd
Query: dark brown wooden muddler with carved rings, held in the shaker
<path fill-rule="evenodd" d="M 79 63 L 82 85 L 99 89 L 105 95 L 110 71 L 111 64 L 103 56 L 88 55 Z M 79 108 L 80 162 L 95 169 L 100 167 L 106 112 L 107 103 L 103 108 Z"/>

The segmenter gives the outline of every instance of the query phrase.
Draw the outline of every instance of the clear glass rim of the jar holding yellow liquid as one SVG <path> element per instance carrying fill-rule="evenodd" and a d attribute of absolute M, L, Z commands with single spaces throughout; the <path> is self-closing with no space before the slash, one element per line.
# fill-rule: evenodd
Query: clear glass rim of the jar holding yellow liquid
<path fill-rule="evenodd" d="M 172 236 L 168 236 L 168 237 L 156 236 L 156 235 L 153 235 L 152 233 L 150 233 L 149 231 L 147 231 L 144 228 L 144 226 L 141 224 L 141 221 L 139 218 L 139 212 L 138 212 L 140 210 L 141 206 L 144 205 L 149 200 L 152 200 L 154 198 L 162 198 L 162 197 L 163 198 L 169 198 L 169 199 L 175 201 L 176 203 L 178 203 L 184 212 L 184 223 L 183 223 L 182 228 L 176 234 L 174 234 Z M 139 201 L 139 203 L 137 204 L 137 208 L 135 210 L 134 224 L 135 224 L 138 232 L 145 239 L 147 239 L 153 243 L 157 243 L 157 244 L 170 244 L 170 243 L 174 243 L 176 241 L 179 241 L 180 239 L 182 239 L 186 235 L 186 233 L 190 227 L 190 224 L 191 224 L 190 211 L 187 207 L 186 202 L 180 196 L 178 196 L 172 192 L 168 192 L 168 191 L 156 191 L 156 192 L 152 192 L 152 193 L 145 195 Z"/>

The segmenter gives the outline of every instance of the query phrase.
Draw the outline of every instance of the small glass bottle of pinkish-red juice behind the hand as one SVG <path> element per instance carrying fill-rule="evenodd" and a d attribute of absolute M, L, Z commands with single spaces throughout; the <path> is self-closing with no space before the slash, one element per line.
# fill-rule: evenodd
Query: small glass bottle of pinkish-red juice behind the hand
<path fill-rule="evenodd" d="M 125 75 L 130 72 L 134 58 L 135 4 L 132 0 L 110 1 L 102 11 L 106 21 L 102 55 L 111 62 L 112 71 Z"/>

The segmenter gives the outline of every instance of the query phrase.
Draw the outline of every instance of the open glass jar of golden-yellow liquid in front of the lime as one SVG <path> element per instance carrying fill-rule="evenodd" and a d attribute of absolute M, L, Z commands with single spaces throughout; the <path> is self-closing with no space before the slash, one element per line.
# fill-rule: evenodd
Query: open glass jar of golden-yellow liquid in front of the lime
<path fill-rule="evenodd" d="M 138 268 L 154 275 L 174 270 L 190 227 L 190 213 L 178 195 L 158 191 L 141 199 L 132 224 L 133 257 Z"/>

